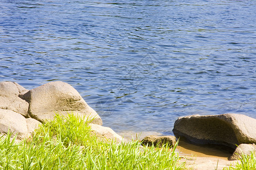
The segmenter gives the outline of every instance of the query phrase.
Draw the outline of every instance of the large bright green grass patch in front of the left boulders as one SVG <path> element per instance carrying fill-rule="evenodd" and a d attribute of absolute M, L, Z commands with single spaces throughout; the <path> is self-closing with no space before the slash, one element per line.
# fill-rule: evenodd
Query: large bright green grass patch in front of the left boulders
<path fill-rule="evenodd" d="M 0 169 L 183 169 L 176 146 L 170 150 L 142 147 L 138 141 L 100 141 L 88 121 L 57 115 L 22 142 L 10 133 L 1 137 Z"/>

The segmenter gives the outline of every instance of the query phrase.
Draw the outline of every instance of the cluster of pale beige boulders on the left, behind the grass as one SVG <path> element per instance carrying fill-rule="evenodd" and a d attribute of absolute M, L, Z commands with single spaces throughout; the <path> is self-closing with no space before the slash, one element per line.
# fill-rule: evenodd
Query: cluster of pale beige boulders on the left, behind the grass
<path fill-rule="evenodd" d="M 64 82 L 49 82 L 32 90 L 15 82 L 0 82 L 0 133 L 10 130 L 18 138 L 28 137 L 39 124 L 52 120 L 56 113 L 75 114 L 91 120 L 91 128 L 101 138 L 122 141 L 112 129 L 101 126 L 98 114 L 79 92 Z"/>

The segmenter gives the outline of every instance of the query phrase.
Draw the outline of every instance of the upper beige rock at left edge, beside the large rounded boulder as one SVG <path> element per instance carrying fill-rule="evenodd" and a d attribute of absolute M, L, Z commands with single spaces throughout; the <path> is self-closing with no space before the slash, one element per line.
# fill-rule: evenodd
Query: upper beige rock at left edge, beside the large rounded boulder
<path fill-rule="evenodd" d="M 20 113 L 27 117 L 28 103 L 21 99 L 24 93 L 26 93 L 24 87 L 14 82 L 1 82 L 0 83 L 0 108 L 8 109 L 16 113 Z"/>

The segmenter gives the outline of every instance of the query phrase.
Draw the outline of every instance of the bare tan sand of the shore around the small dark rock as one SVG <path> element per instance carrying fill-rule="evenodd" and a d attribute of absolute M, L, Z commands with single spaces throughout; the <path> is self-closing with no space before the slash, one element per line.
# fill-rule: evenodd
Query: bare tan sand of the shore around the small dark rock
<path fill-rule="evenodd" d="M 123 131 L 118 133 L 127 139 L 142 140 L 147 135 L 162 135 L 155 131 L 134 132 Z M 232 155 L 232 151 L 224 147 L 197 146 L 179 141 L 176 151 L 181 156 L 180 162 L 185 162 L 188 169 L 223 169 L 224 167 L 235 165 L 237 161 L 229 161 L 228 157 Z"/>

